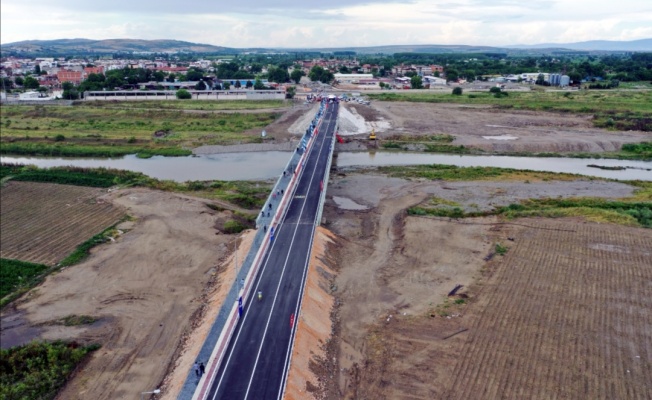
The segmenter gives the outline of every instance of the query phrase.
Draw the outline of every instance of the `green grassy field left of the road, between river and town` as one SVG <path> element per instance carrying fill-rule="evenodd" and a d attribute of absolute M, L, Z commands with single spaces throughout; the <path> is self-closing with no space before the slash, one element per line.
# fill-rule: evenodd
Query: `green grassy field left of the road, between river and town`
<path fill-rule="evenodd" d="M 201 104 L 198 104 L 201 103 Z M 282 106 L 282 102 L 195 102 L 188 107 L 234 110 Z M 235 103 L 235 104 L 233 104 Z M 160 107 L 159 107 L 160 106 Z M 258 131 L 276 112 L 184 111 L 184 102 L 81 103 L 75 106 L 3 105 L 2 154 L 121 156 L 138 153 L 184 156 L 206 144 L 257 143 Z M 159 108 L 150 108 L 159 107 Z M 220 108 L 222 107 L 222 108 Z"/>

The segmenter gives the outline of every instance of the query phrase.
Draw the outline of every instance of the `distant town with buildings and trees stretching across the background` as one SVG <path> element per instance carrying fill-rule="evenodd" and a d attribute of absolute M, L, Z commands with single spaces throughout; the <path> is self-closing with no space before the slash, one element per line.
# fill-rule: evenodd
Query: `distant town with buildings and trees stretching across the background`
<path fill-rule="evenodd" d="M 265 90 L 274 91 L 274 95 L 258 98 L 292 98 L 312 92 L 312 82 L 344 91 L 454 87 L 473 91 L 492 86 L 527 90 L 532 85 L 608 89 L 617 87 L 621 81 L 652 79 L 648 68 L 637 68 L 649 62 L 646 54 L 561 58 L 492 53 L 467 57 L 321 54 L 300 60 L 298 54 L 245 54 L 194 60 L 174 54 L 137 56 L 4 57 L 0 66 L 2 100 L 106 100 L 115 99 L 122 91 L 160 91 L 165 95 L 163 98 L 209 99 L 210 96 L 202 97 L 201 92 Z M 415 62 L 424 58 L 443 62 Z M 162 98 L 148 93 L 129 96 Z"/>

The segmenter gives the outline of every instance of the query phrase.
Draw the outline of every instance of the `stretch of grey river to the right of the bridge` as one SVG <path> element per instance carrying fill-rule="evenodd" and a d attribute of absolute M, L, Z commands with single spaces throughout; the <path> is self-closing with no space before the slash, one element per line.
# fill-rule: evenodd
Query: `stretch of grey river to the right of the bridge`
<path fill-rule="evenodd" d="M 529 169 L 533 171 L 565 172 L 601 178 L 652 181 L 652 162 L 579 159 L 562 157 L 509 157 L 509 156 L 455 156 L 444 154 L 401 152 L 339 153 L 338 167 L 449 164 L 458 167 L 499 167 Z M 611 171 L 588 167 L 595 164 L 607 167 L 633 167 Z"/>

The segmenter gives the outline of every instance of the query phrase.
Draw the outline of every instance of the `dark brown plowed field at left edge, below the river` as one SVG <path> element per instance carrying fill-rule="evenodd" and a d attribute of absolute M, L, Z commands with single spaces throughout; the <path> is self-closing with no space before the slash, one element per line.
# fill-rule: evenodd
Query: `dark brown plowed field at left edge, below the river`
<path fill-rule="evenodd" d="M 8 182 L 0 190 L 0 257 L 53 265 L 119 221 L 102 189 Z"/>

